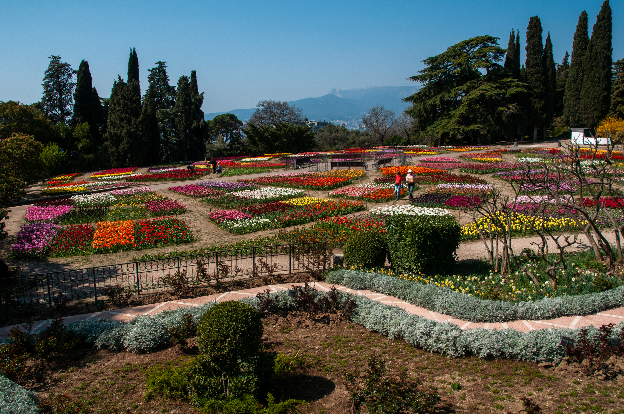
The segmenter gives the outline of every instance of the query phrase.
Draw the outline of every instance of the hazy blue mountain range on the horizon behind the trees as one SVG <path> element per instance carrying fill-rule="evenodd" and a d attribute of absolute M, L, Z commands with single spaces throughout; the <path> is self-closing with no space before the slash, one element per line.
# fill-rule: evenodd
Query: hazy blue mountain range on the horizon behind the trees
<path fill-rule="evenodd" d="M 288 103 L 295 104 L 303 109 L 303 115 L 308 120 L 326 120 L 333 123 L 345 123 L 348 127 L 355 127 L 359 118 L 366 113 L 368 108 L 375 105 L 384 105 L 397 114 L 401 113 L 407 104 L 403 98 L 415 94 L 417 86 L 371 86 L 362 89 L 332 89 L 329 94 L 318 98 L 305 98 L 292 100 Z M 251 117 L 256 108 L 233 109 L 228 112 L 207 113 L 205 118 L 212 118 L 222 113 L 233 113 L 245 122 Z"/>

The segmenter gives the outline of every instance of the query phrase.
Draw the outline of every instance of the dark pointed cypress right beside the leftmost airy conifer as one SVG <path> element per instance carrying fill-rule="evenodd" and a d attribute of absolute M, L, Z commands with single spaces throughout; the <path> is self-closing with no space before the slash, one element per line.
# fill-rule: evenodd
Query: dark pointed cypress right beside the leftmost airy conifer
<path fill-rule="evenodd" d="M 96 145 L 102 145 L 100 128 L 104 119 L 102 118 L 102 103 L 97 95 L 97 90 L 93 87 L 93 79 L 89 70 L 89 62 L 82 60 L 78 67 L 76 77 L 76 93 L 74 94 L 74 118 L 72 124 L 89 124 L 89 135 Z"/>

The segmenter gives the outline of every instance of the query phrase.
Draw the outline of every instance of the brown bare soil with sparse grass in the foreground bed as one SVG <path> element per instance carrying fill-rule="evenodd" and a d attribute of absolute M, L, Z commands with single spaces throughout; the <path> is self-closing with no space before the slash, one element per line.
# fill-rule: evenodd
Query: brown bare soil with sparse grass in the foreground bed
<path fill-rule="evenodd" d="M 368 332 L 335 313 L 269 315 L 263 324 L 269 349 L 286 355 L 299 352 L 306 359 L 298 375 L 276 383 L 272 392 L 278 400 L 308 401 L 305 413 L 350 414 L 344 371 L 361 373 L 373 355 L 386 362 L 389 375 L 406 369 L 412 377 L 437 388 L 442 397 L 437 413 L 517 413 L 523 408 L 522 397 L 537 403 L 542 413 L 617 413 L 624 409 L 624 378 L 585 377 L 578 366 L 565 360 L 554 368 L 552 364 L 506 359 L 448 359 L 403 340 Z M 197 348 L 190 354 L 197 354 Z M 195 408 L 187 402 L 143 400 L 145 370 L 180 357 L 183 355 L 174 348 L 153 354 L 83 349 L 61 362 L 32 361 L 27 387 L 40 397 L 67 393 L 88 402 L 97 413 L 194 413 Z M 624 367 L 624 360 L 613 362 L 616 370 Z M 452 383 L 458 383 L 460 389 L 451 388 Z"/>

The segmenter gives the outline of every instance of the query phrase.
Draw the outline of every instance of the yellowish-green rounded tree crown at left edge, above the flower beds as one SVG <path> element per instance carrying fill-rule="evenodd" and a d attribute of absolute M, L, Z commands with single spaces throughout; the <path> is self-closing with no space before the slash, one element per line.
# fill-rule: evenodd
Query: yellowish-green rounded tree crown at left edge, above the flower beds
<path fill-rule="evenodd" d="M 0 204 L 20 198 L 24 186 L 47 176 L 42 152 L 31 135 L 13 133 L 0 141 Z"/>

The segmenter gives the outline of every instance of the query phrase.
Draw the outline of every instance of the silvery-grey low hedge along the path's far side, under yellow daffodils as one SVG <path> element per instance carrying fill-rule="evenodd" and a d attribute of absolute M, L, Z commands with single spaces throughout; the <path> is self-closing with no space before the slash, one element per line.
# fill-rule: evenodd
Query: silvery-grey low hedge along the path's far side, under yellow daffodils
<path fill-rule="evenodd" d="M 624 286 L 604 292 L 552 297 L 516 304 L 478 299 L 447 287 L 405 281 L 373 272 L 340 269 L 329 272 L 326 281 L 349 289 L 369 289 L 398 297 L 412 305 L 470 322 L 509 322 L 519 319 L 540 320 L 582 316 L 624 306 Z"/>

